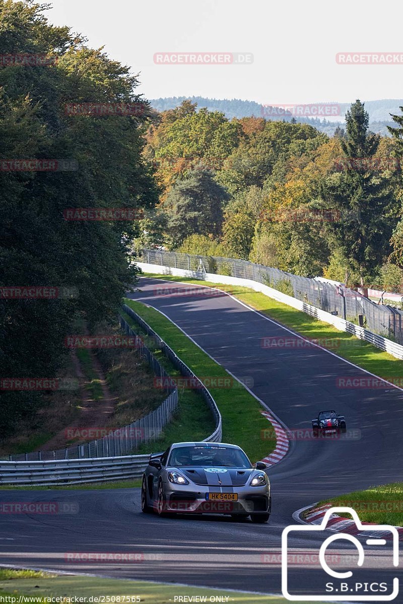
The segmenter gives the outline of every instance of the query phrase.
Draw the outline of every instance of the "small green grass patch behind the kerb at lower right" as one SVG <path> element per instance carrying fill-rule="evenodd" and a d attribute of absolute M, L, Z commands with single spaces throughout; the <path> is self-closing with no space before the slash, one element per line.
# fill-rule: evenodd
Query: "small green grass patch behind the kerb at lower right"
<path fill-rule="evenodd" d="M 321 501 L 351 507 L 363 522 L 403 526 L 403 483 L 385 484 Z M 307 510 L 308 511 L 308 510 Z M 350 515 L 344 515 L 351 517 Z"/>

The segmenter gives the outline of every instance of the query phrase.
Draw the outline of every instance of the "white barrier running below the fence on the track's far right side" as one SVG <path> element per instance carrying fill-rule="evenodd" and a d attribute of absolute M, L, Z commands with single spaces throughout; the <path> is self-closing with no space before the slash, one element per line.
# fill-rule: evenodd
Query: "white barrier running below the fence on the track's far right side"
<path fill-rule="evenodd" d="M 269 286 L 254 281 L 252 279 L 228 277 L 227 275 L 218 275 L 216 273 L 189 271 L 187 269 L 180 269 L 165 265 L 155 265 L 145 262 L 138 262 L 137 265 L 144 272 L 155 272 L 156 274 L 172 274 L 182 277 L 193 277 L 204 281 L 211 281 L 211 283 L 227 283 L 230 285 L 239 285 L 245 288 L 254 289 L 257 292 L 262 292 L 262 294 L 265 294 L 269 298 L 273 298 L 274 300 L 278 300 L 279 302 L 288 304 L 288 306 L 292 306 L 297 310 L 306 312 L 308 315 L 311 315 L 319 319 L 320 321 L 330 323 L 342 332 L 352 333 L 357 338 L 370 342 L 370 344 L 373 344 L 377 348 L 388 352 L 390 355 L 395 356 L 398 359 L 403 359 L 403 345 L 398 344 L 397 342 L 393 342 L 392 340 L 384 338 L 383 336 L 378 335 L 376 333 L 370 332 L 364 327 L 359 327 L 355 323 L 351 323 L 350 321 L 342 319 L 340 316 L 332 315 L 331 313 L 326 312 L 326 310 L 321 310 L 302 300 L 297 300 L 297 298 L 293 298 L 292 296 L 283 294 L 277 289 L 270 288 Z"/>

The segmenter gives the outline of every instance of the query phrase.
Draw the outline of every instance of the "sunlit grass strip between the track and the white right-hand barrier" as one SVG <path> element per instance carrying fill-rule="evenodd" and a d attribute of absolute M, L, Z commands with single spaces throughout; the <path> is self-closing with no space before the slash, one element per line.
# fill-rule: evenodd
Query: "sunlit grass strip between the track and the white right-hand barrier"
<path fill-rule="evenodd" d="M 372 344 L 369 344 L 369 342 L 358 339 L 350 333 L 340 332 L 334 326 L 323 321 L 318 321 L 305 312 L 301 312 L 291 306 L 277 302 L 265 294 L 255 292 L 253 289 L 241 288 L 237 285 L 210 283 L 208 281 L 176 277 L 174 275 L 144 274 L 144 276 L 161 278 L 167 281 L 194 283 L 196 285 L 203 284 L 221 289 L 222 291 L 231 292 L 234 297 L 243 303 L 268 315 L 275 321 L 279 321 L 284 326 L 289 327 L 306 338 L 318 340 L 321 346 L 331 350 L 338 356 L 384 379 L 396 379 L 396 381 L 401 379 L 403 385 L 403 365 L 399 359 L 379 350 Z"/>

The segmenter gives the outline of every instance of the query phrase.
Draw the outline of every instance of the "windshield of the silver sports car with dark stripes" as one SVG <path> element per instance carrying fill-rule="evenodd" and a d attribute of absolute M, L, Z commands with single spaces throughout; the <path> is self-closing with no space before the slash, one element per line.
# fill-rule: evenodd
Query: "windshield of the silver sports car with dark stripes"
<path fill-rule="evenodd" d="M 221 446 L 184 446 L 172 449 L 169 466 L 252 467 L 243 451 Z"/>

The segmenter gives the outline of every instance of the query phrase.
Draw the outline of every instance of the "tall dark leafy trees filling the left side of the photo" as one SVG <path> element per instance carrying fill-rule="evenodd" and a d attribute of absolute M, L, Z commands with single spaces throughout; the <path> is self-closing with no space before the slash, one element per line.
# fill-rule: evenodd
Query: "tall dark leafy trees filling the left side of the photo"
<path fill-rule="evenodd" d="M 0 170 L 0 286 L 68 288 L 73 297 L 0 301 L 1 377 L 58 375 L 77 317 L 115 319 L 136 270 L 138 222 L 68 222 L 66 208 L 150 208 L 158 200 L 141 153 L 139 115 L 66 115 L 69 103 L 144 103 L 129 69 L 53 27 L 39 5 L 0 1 L 0 54 L 50 57 L 0 68 L 0 161 L 63 159 L 77 170 Z M 57 59 L 57 60 L 56 60 Z M 63 290 L 62 290 L 63 291 Z M 0 437 L 34 416 L 42 393 L 2 391 Z"/>

